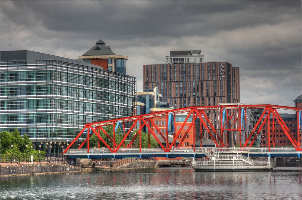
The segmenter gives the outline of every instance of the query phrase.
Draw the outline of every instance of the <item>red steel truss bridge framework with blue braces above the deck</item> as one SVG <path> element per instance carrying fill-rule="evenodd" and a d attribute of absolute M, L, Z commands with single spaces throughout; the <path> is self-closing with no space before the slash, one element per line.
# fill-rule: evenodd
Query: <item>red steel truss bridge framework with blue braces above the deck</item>
<path fill-rule="evenodd" d="M 248 109 L 262 109 L 263 112 L 260 115 L 259 119 L 254 122 L 254 124 L 249 123 L 249 119 L 247 119 L 247 110 Z M 281 118 L 280 114 L 278 113 L 278 110 L 291 110 L 295 111 L 297 113 L 297 131 L 298 133 L 297 138 L 294 137 L 293 133 L 288 129 L 286 126 L 284 120 Z M 210 113 L 215 113 L 219 116 L 219 120 L 217 118 L 217 128 L 214 128 L 213 118 L 207 117 L 207 113 L 210 111 Z M 179 130 L 175 130 L 175 117 L 177 114 L 182 114 L 182 116 L 186 115 L 185 120 L 182 123 L 182 126 L 180 126 Z M 272 121 L 270 121 L 270 116 L 273 118 Z M 161 117 L 163 120 L 165 120 L 165 129 L 166 131 L 164 133 L 161 132 L 158 125 L 153 121 L 154 118 Z M 184 126 L 185 124 L 188 125 L 188 119 L 191 117 L 192 120 L 189 120 L 191 123 L 189 124 L 189 127 L 185 130 Z M 206 130 L 206 133 L 208 136 L 213 140 L 217 148 L 227 148 L 230 146 L 231 141 L 229 134 L 235 132 L 235 135 L 238 135 L 238 145 L 240 147 L 252 147 L 255 140 L 261 134 L 261 130 L 264 127 L 265 123 L 267 123 L 267 129 L 268 129 L 268 147 L 267 150 L 271 152 L 271 143 L 270 143 L 270 136 L 274 138 L 275 134 L 275 123 L 278 124 L 279 127 L 284 131 L 284 134 L 290 141 L 290 144 L 293 146 L 293 148 L 297 152 L 301 152 L 301 143 L 300 143 L 300 133 L 301 133 L 301 108 L 297 107 L 286 107 L 286 106 L 277 106 L 277 105 L 245 105 L 242 103 L 220 103 L 218 106 L 194 106 L 194 107 L 185 107 L 185 108 L 179 108 L 174 110 L 165 110 L 160 111 L 156 113 L 150 113 L 150 114 L 144 114 L 144 115 L 138 115 L 138 116 L 130 116 L 130 117 L 124 117 L 119 119 L 113 119 L 113 120 L 106 120 L 106 121 L 100 121 L 100 122 L 94 122 L 94 123 L 87 123 L 85 124 L 82 131 L 76 136 L 76 138 L 69 144 L 69 146 L 64 150 L 63 153 L 69 153 L 69 149 L 72 147 L 74 143 L 76 143 L 77 139 L 79 139 L 80 136 L 86 136 L 86 139 L 82 144 L 79 145 L 78 150 L 80 150 L 85 143 L 87 143 L 87 149 L 85 149 L 85 152 L 89 154 L 89 137 L 92 134 L 95 134 L 98 137 L 98 148 L 100 148 L 100 142 L 106 146 L 106 152 L 109 152 L 111 154 L 115 154 L 117 152 L 120 152 L 121 149 L 131 149 L 131 145 L 133 144 L 134 140 L 138 137 L 140 141 L 140 148 L 137 148 L 137 152 L 146 152 L 146 148 L 143 148 L 141 146 L 141 132 L 142 128 L 146 127 L 148 132 L 148 147 L 150 147 L 150 136 L 152 135 L 156 141 L 159 144 L 159 147 L 161 149 L 161 152 L 173 152 L 175 149 L 178 149 L 183 141 L 185 140 L 187 134 L 189 133 L 189 130 L 191 127 L 193 127 L 193 147 L 188 148 L 191 149 L 192 152 L 197 152 L 198 146 L 202 147 L 202 143 L 195 144 L 195 120 L 200 120 L 200 130 Z M 248 120 L 248 121 L 247 121 Z M 125 124 L 127 123 L 128 127 L 125 129 Z M 130 124 L 130 126 L 129 126 Z M 138 131 L 134 135 L 133 139 L 129 143 L 129 136 L 130 133 L 133 132 L 133 130 L 137 127 L 137 124 L 140 124 Z M 105 126 L 113 125 L 113 137 L 111 137 L 105 130 Z M 252 131 L 250 133 L 247 133 L 246 127 L 252 125 Z M 270 126 L 272 125 L 272 126 Z M 117 128 L 120 127 L 123 139 L 120 143 L 116 143 L 115 136 L 116 134 L 121 134 L 120 132 L 117 133 Z M 278 128 L 279 128 L 278 127 Z M 218 128 L 220 129 L 219 131 Z M 168 129 L 170 131 L 168 131 Z M 156 131 L 155 131 L 156 130 Z M 171 131 L 172 130 L 172 131 Z M 105 137 L 103 138 L 100 135 L 100 131 L 102 131 L 105 134 Z M 172 137 L 168 136 L 168 132 Z M 172 133 L 171 133 L 172 132 Z M 89 134 L 88 134 L 89 133 Z M 200 138 L 203 138 L 202 131 Z M 169 141 L 168 141 L 168 138 Z M 108 141 L 108 139 L 113 143 L 113 146 L 109 146 L 105 140 Z M 244 143 L 241 143 L 242 139 L 245 139 Z M 179 141 L 180 140 L 180 141 Z M 128 141 L 127 144 L 125 144 L 125 141 Z M 163 142 L 165 141 L 165 142 Z M 202 141 L 202 139 L 200 140 Z M 274 141 L 274 139 L 273 139 Z M 273 142 L 273 147 L 275 146 L 275 143 Z M 197 147 L 195 147 L 197 146 Z M 174 149 L 175 148 L 175 149 Z M 133 148 L 132 148 L 133 149 Z M 155 149 L 155 148 L 154 148 Z M 156 148 L 158 150 L 158 148 Z M 72 149 L 70 149 L 72 150 Z M 74 149 L 75 150 L 75 149 Z M 81 149 L 84 150 L 84 149 Z M 92 150 L 92 149 L 91 149 Z M 104 150 L 104 149 L 103 149 Z M 134 149 L 133 149 L 134 150 Z M 152 153 L 152 148 L 150 148 L 151 151 L 147 151 L 149 153 Z M 156 150 L 156 151 L 157 151 Z M 131 151 L 131 150 L 130 150 Z"/>

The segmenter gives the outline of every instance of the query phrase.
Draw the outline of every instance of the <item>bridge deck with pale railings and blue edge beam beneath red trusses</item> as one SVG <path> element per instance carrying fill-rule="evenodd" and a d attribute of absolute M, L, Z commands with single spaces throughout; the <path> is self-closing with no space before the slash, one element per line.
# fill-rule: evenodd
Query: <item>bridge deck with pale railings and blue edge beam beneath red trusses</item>
<path fill-rule="evenodd" d="M 164 152 L 162 148 L 122 148 L 116 153 L 110 152 L 109 149 L 68 149 L 65 156 L 69 158 L 76 157 L 91 157 L 91 158 L 101 158 L 101 157 L 114 157 L 114 158 L 124 158 L 124 157 L 204 157 L 205 151 L 211 150 L 218 154 L 243 154 L 248 156 L 270 156 L 270 157 L 301 157 L 301 151 L 296 151 L 294 147 L 213 147 L 205 148 L 198 147 L 195 148 L 173 148 L 169 152 Z"/>

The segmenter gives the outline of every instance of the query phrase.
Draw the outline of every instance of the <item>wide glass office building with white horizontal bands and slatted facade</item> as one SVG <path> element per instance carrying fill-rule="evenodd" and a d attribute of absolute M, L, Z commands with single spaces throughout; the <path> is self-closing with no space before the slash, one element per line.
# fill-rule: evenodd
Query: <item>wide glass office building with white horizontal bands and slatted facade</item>
<path fill-rule="evenodd" d="M 132 116 L 136 98 L 135 77 L 34 51 L 1 51 L 1 131 L 17 128 L 34 143 L 72 141 L 85 123 Z"/>

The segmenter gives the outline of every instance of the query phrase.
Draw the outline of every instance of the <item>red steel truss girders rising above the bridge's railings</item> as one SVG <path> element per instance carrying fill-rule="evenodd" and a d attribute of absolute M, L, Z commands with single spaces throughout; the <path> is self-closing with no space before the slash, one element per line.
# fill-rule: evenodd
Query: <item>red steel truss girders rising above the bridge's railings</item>
<path fill-rule="evenodd" d="M 255 126 L 253 126 L 253 130 L 252 132 L 247 136 L 246 133 L 246 109 L 257 109 L 257 108 L 262 108 L 264 109 L 264 111 L 262 112 L 259 120 L 257 121 L 257 123 L 255 124 Z M 223 146 L 229 146 L 230 145 L 230 141 L 229 141 L 229 133 L 230 131 L 235 131 L 235 135 L 238 134 L 239 136 L 239 146 L 242 146 L 241 144 L 241 135 L 242 132 L 245 132 L 246 135 L 246 141 L 243 144 L 243 146 L 252 146 L 255 139 L 258 137 L 260 130 L 262 129 L 262 127 L 264 126 L 264 124 L 266 123 L 266 121 L 268 121 L 269 124 L 269 115 L 272 114 L 273 119 L 275 118 L 277 123 L 280 124 L 280 126 L 282 127 L 285 135 L 288 137 L 288 139 L 290 140 L 291 144 L 297 149 L 301 151 L 301 145 L 300 145 L 300 127 L 301 127 L 301 117 L 297 116 L 299 119 L 298 120 L 298 140 L 296 140 L 293 136 L 293 134 L 291 133 L 291 131 L 288 129 L 288 127 L 285 125 L 284 121 L 282 120 L 281 116 L 279 115 L 279 113 L 277 112 L 277 109 L 282 109 L 282 110 L 293 110 L 296 111 L 297 113 L 301 113 L 301 108 L 296 108 L 296 107 L 285 107 L 285 106 L 277 106 L 277 105 L 270 105 L 270 104 L 263 104 L 263 105 L 245 105 L 245 104 L 241 104 L 241 103 L 230 103 L 230 104 L 219 104 L 219 106 L 195 106 L 195 107 L 186 107 L 186 108 L 180 108 L 180 109 L 174 109 L 174 110 L 165 110 L 165 111 L 160 111 L 160 112 L 156 112 L 156 113 L 150 113 L 150 114 L 144 114 L 144 115 L 138 115 L 138 116 L 130 116 L 130 117 L 124 117 L 124 118 L 120 118 L 120 119 L 114 119 L 114 120 L 106 120 L 106 121 L 101 121 L 101 122 L 94 122 L 94 123 L 87 123 L 85 124 L 84 128 L 82 129 L 82 131 L 76 136 L 76 138 L 69 144 L 69 146 L 66 148 L 66 150 L 64 151 L 64 153 L 66 153 L 68 151 L 69 148 L 72 147 L 72 145 L 76 142 L 76 140 L 83 135 L 84 131 L 86 129 L 87 130 L 87 138 L 84 140 L 84 142 L 82 144 L 80 144 L 80 146 L 78 148 L 82 148 L 82 146 L 87 143 L 87 152 L 89 153 L 89 137 L 92 134 L 95 134 L 98 137 L 98 148 L 100 147 L 100 142 L 102 142 L 112 153 L 117 152 L 118 149 L 121 148 L 121 146 L 123 146 L 123 148 L 125 148 L 125 140 L 127 139 L 127 137 L 130 135 L 130 133 L 134 130 L 134 128 L 136 127 L 136 124 L 139 123 L 140 127 L 139 130 L 137 131 L 137 133 L 135 134 L 135 136 L 133 137 L 133 139 L 130 141 L 130 143 L 127 145 L 126 148 L 131 148 L 131 144 L 133 143 L 133 141 L 137 138 L 137 136 L 139 136 L 139 140 L 140 140 L 140 149 L 141 147 L 141 131 L 142 128 L 144 126 L 146 126 L 148 128 L 148 143 L 150 145 L 150 135 L 152 135 L 156 141 L 158 142 L 159 146 L 163 149 L 164 152 L 169 152 L 172 148 L 172 146 L 176 146 L 176 141 L 179 138 L 180 139 L 180 143 L 178 144 L 177 147 L 181 146 L 182 142 L 185 140 L 189 130 L 193 127 L 193 147 L 195 148 L 195 120 L 197 118 L 200 119 L 200 126 L 204 127 L 207 131 L 207 133 L 209 134 L 210 138 L 214 141 L 215 145 L 217 147 L 223 147 Z M 218 122 L 220 121 L 220 133 L 217 133 L 217 130 L 215 130 L 214 125 L 212 123 L 212 121 L 207 117 L 206 112 L 208 110 L 216 110 L 217 111 L 217 115 L 220 117 L 220 120 L 217 120 Z M 180 126 L 180 129 L 178 131 L 176 131 L 175 129 L 173 129 L 173 136 L 174 139 L 172 141 L 172 143 L 168 142 L 168 123 L 171 117 L 169 117 L 168 120 L 168 115 L 169 114 L 173 114 L 174 115 L 174 123 L 175 123 L 175 115 L 178 113 L 182 113 L 182 114 L 186 114 L 186 118 L 184 120 L 184 122 L 182 123 L 182 125 Z M 265 119 L 263 120 L 263 117 L 266 115 Z M 158 126 L 154 123 L 153 118 L 155 117 L 162 117 L 163 119 L 165 118 L 166 121 L 166 130 L 165 130 L 165 135 L 160 131 L 160 129 L 158 128 Z M 189 117 L 192 117 L 192 122 L 189 124 L 189 128 L 187 130 L 184 130 L 184 126 L 187 123 Z M 204 118 L 204 119 L 203 119 Z M 132 125 L 130 126 L 130 128 L 127 130 L 127 132 L 125 131 L 125 122 L 128 123 L 132 123 Z M 272 123 L 274 124 L 274 120 L 272 121 Z M 106 131 L 104 130 L 104 126 L 106 125 L 113 125 L 113 138 L 111 136 L 109 136 L 108 133 L 106 133 Z M 188 125 L 188 124 L 186 124 Z M 117 144 L 115 142 L 115 132 L 117 130 L 117 126 L 119 126 L 122 130 L 123 133 L 123 139 L 122 141 Z M 269 126 L 269 125 L 268 125 Z M 174 124 L 175 127 L 175 124 Z M 218 124 L 217 124 L 217 127 Z M 259 127 L 259 128 L 258 128 Z M 268 134 L 270 135 L 271 132 L 273 134 L 274 137 L 274 126 L 272 126 L 272 131 L 270 130 L 270 128 L 268 128 Z M 159 136 L 155 133 L 154 130 L 157 130 L 157 133 L 159 133 Z M 258 128 L 257 131 L 255 131 Z M 90 130 L 92 130 L 92 134 L 90 133 Z M 102 131 L 105 134 L 105 137 L 107 137 L 107 139 L 109 139 L 112 143 L 113 146 L 109 146 L 106 142 L 105 142 L 105 138 L 102 138 L 100 135 L 100 131 Z M 202 131 L 201 131 L 202 132 Z M 237 133 L 238 132 L 238 133 Z M 185 133 L 182 135 L 182 137 L 180 138 L 180 134 L 181 133 Z M 227 134 L 227 141 L 226 141 L 226 145 L 223 143 L 223 134 L 226 133 Z M 201 134 L 201 141 L 202 141 L 202 133 Z M 158 137 L 161 137 L 166 145 L 164 146 L 161 142 L 160 139 Z M 236 141 L 235 141 L 236 142 Z M 148 146 L 149 146 L 148 145 Z M 198 144 L 199 145 L 199 144 Z M 202 143 L 200 144 L 202 145 Z M 273 141 L 273 145 L 274 145 L 274 141 Z M 269 144 L 270 146 L 270 144 Z M 270 147 L 269 147 L 270 148 Z"/>

